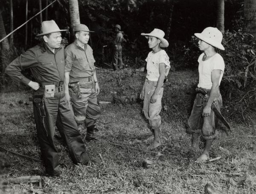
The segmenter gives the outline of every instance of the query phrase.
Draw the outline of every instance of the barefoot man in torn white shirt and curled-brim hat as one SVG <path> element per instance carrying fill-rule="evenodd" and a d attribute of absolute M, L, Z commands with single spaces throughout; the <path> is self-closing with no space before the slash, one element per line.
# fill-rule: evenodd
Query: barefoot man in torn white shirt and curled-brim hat
<path fill-rule="evenodd" d="M 143 112 L 148 119 L 149 128 L 153 135 L 146 139 L 154 139 L 148 149 L 160 146 L 160 124 L 159 115 L 162 109 L 163 81 L 169 73 L 169 56 L 162 48 L 168 47 L 169 43 L 164 39 L 164 32 L 155 28 L 151 33 L 142 33 L 148 39 L 148 47 L 152 50 L 145 59 L 147 62 L 147 75 L 140 98 L 144 99 Z"/>

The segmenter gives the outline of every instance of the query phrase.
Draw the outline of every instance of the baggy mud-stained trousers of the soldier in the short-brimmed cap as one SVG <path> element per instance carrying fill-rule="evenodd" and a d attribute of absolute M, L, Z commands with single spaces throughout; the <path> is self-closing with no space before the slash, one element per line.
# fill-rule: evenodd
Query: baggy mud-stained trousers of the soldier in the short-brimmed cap
<path fill-rule="evenodd" d="M 97 96 L 94 88 L 81 88 L 81 98 L 76 97 L 76 93 L 70 88 L 71 103 L 77 125 L 85 123 L 85 127 L 95 126 L 101 115 Z"/>

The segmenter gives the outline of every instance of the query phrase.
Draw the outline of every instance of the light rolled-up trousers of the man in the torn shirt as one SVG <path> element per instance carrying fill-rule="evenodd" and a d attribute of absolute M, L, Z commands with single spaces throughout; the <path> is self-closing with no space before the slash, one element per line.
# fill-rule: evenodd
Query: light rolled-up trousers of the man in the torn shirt
<path fill-rule="evenodd" d="M 148 119 L 149 127 L 152 129 L 157 129 L 161 124 L 161 117 L 159 115 L 162 109 L 162 97 L 163 97 L 163 87 L 160 89 L 160 94 L 157 95 L 157 102 L 150 103 L 150 98 L 154 93 L 157 82 L 152 82 L 147 80 L 145 82 L 145 97 L 143 104 L 143 113 Z"/>

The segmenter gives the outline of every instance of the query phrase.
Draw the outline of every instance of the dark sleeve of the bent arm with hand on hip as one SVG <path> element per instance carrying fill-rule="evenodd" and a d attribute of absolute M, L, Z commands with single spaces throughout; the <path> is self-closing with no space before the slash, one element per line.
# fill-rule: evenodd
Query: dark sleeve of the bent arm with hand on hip
<path fill-rule="evenodd" d="M 9 75 L 16 82 L 21 82 L 23 84 L 29 84 L 30 79 L 26 78 L 21 71 L 23 69 L 36 67 L 38 65 L 38 61 L 36 59 L 36 55 L 32 50 L 28 50 L 25 53 L 18 56 L 14 59 L 7 67 L 6 74 Z"/>

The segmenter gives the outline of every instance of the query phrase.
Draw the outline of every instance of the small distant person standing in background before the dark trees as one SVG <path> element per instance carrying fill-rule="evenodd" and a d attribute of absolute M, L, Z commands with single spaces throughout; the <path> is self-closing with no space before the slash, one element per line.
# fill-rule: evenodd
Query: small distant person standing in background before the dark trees
<path fill-rule="evenodd" d="M 112 57 L 112 65 L 113 70 L 118 68 L 123 68 L 122 63 L 122 42 L 123 42 L 123 34 L 121 32 L 121 26 L 119 24 L 115 25 L 116 37 L 113 41 L 113 57 Z"/>

